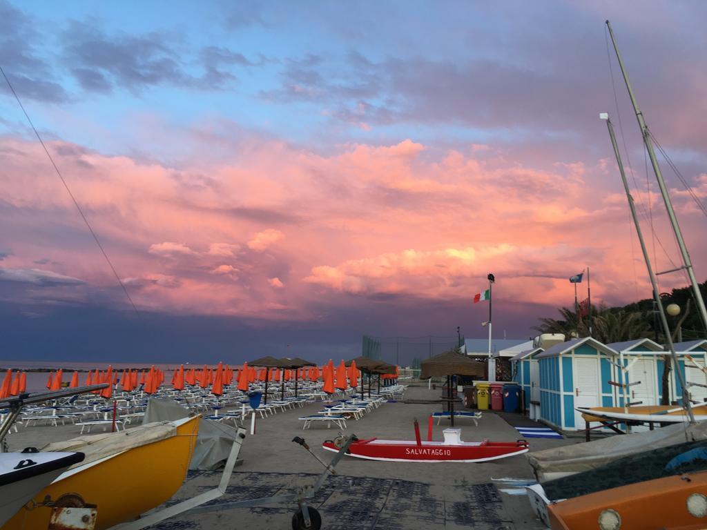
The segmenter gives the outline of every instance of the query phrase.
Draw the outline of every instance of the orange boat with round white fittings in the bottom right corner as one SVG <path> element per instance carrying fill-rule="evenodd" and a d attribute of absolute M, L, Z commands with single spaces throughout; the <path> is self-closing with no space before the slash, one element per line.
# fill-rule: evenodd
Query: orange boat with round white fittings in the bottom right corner
<path fill-rule="evenodd" d="M 707 471 L 582 495 L 547 512 L 552 530 L 707 529 Z"/>

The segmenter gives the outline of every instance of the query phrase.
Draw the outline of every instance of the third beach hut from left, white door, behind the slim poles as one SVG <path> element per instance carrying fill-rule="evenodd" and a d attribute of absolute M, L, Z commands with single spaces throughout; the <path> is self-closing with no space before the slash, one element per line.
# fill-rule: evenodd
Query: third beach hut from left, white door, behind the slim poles
<path fill-rule="evenodd" d="M 626 374 L 629 387 L 614 386 L 614 399 L 617 406 L 624 406 L 624 392 L 629 404 L 660 405 L 662 399 L 662 373 L 665 368 L 663 356 L 666 351 L 660 344 L 650 338 L 636 338 L 633 341 L 614 342 L 607 344 L 612 350 L 619 352 L 619 365 L 627 367 L 616 370 L 616 382 L 623 384 Z M 623 373 L 621 373 L 623 372 Z M 671 393 L 674 394 L 674 374 L 671 379 Z M 674 400 L 674 395 L 671 396 Z"/>

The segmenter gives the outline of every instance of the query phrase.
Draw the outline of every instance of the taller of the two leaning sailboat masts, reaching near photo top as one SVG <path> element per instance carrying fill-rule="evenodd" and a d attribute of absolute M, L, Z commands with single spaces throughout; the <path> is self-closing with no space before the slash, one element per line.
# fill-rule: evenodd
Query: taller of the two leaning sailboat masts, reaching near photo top
<path fill-rule="evenodd" d="M 662 195 L 663 202 L 665 203 L 667 216 L 668 218 L 670 218 L 670 225 L 672 225 L 672 230 L 675 233 L 675 239 L 677 240 L 677 246 L 680 249 L 680 254 L 682 254 L 683 266 L 679 269 L 685 269 L 687 271 L 687 276 L 689 276 L 690 278 L 690 283 L 694 293 L 697 311 L 699 312 L 700 318 L 702 319 L 702 324 L 705 326 L 705 329 L 707 329 L 707 308 L 705 307 L 705 302 L 702 299 L 702 294 L 700 293 L 699 283 L 697 283 L 697 278 L 695 278 L 695 272 L 692 267 L 690 254 L 689 252 L 687 252 L 685 240 L 682 237 L 682 230 L 680 230 L 680 225 L 677 222 L 677 216 L 675 216 L 675 211 L 672 207 L 672 201 L 670 201 L 670 195 L 668 194 L 667 187 L 665 186 L 665 180 L 662 177 L 662 172 L 660 172 L 658 158 L 655 158 L 653 141 L 651 141 L 650 139 L 648 125 L 645 124 L 645 119 L 643 119 L 643 113 L 641 112 L 641 110 L 638 109 L 638 102 L 636 102 L 636 96 L 633 95 L 633 89 L 631 88 L 631 82 L 629 81 L 629 74 L 626 73 L 624 59 L 621 59 L 621 53 L 619 52 L 619 47 L 617 45 L 616 39 L 614 38 L 614 31 L 612 30 L 612 25 L 609 23 L 609 20 L 607 20 L 607 28 L 609 28 L 609 35 L 612 37 L 614 51 L 617 54 L 617 59 L 619 59 L 619 66 L 621 67 L 621 73 L 623 74 L 624 81 L 626 82 L 626 89 L 629 90 L 631 105 L 633 105 L 633 110 L 636 112 L 636 119 L 638 119 L 638 126 L 641 128 L 641 136 L 643 136 L 643 143 L 645 143 L 645 149 L 646 151 L 648 151 L 648 158 L 650 158 L 650 164 L 653 165 L 653 172 L 655 172 L 655 178 L 658 179 L 658 187 L 660 187 L 660 194 Z M 658 300 L 658 305 L 661 305 L 660 300 Z"/>

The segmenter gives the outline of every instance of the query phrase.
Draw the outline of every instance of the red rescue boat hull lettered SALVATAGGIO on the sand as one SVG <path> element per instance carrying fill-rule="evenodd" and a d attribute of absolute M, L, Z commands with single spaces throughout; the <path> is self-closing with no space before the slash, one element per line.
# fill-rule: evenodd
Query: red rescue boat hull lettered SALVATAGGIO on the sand
<path fill-rule="evenodd" d="M 322 444 L 327 451 L 338 452 L 334 442 Z M 525 440 L 518 442 L 461 442 L 443 444 L 440 442 L 408 442 L 403 440 L 358 440 L 346 452 L 350 457 L 393 462 L 486 462 L 513 457 L 527 452 Z"/>

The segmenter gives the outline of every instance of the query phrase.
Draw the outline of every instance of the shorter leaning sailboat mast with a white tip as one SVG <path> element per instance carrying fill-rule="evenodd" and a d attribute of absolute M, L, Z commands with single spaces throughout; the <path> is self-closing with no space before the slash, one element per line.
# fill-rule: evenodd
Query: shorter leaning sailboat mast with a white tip
<path fill-rule="evenodd" d="M 645 260 L 645 268 L 648 269 L 648 276 L 650 277 L 650 285 L 653 286 L 653 298 L 655 302 L 658 303 L 658 313 L 660 314 L 660 323 L 662 324 L 663 331 L 665 332 L 665 341 L 668 350 L 670 351 L 670 356 L 672 358 L 672 365 L 677 374 L 680 382 L 680 388 L 682 388 L 682 402 L 687 411 L 687 416 L 690 423 L 694 423 L 695 417 L 692 413 L 692 404 L 690 403 L 690 394 L 688 391 L 685 378 L 682 375 L 682 370 L 679 369 L 679 364 L 677 362 L 677 353 L 675 353 L 675 346 L 672 343 L 672 336 L 670 335 L 670 327 L 667 324 L 667 317 L 665 316 L 665 309 L 660 302 L 660 290 L 658 290 L 658 282 L 655 281 L 655 273 L 653 273 L 653 267 L 650 266 L 650 258 L 648 257 L 648 249 L 645 247 L 645 240 L 643 240 L 643 232 L 641 232 L 641 223 L 638 222 L 638 215 L 636 214 L 636 205 L 633 204 L 633 196 L 631 196 L 631 190 L 629 189 L 629 181 L 626 180 L 626 173 L 624 172 L 624 164 L 621 163 L 621 153 L 619 153 L 619 145 L 617 144 L 616 135 L 614 134 L 614 126 L 612 121 L 609 119 L 609 114 L 600 114 L 602 119 L 607 120 L 607 127 L 609 128 L 609 136 L 612 139 L 612 147 L 614 148 L 614 155 L 617 158 L 617 164 L 619 164 L 619 172 L 621 173 L 621 182 L 624 184 L 624 190 L 626 191 L 626 199 L 629 199 L 629 208 L 631 209 L 631 217 L 633 218 L 633 224 L 636 225 L 636 235 L 638 235 L 638 241 L 641 242 L 641 252 L 643 252 L 643 259 Z M 623 362 L 621 363 L 621 370 L 623 370 Z M 626 384 L 626 378 L 622 377 L 621 382 Z M 624 387 L 624 396 L 625 394 Z M 626 406 L 626 397 L 624 397 L 624 407 Z"/>

